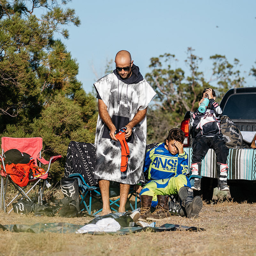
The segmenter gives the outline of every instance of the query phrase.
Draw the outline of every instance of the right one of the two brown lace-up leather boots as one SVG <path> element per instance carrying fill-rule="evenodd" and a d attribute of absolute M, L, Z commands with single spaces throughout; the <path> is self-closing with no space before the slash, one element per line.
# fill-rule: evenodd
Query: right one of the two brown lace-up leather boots
<path fill-rule="evenodd" d="M 148 216 L 147 220 L 168 220 L 171 216 L 168 199 L 169 196 L 157 195 L 156 210 Z"/>

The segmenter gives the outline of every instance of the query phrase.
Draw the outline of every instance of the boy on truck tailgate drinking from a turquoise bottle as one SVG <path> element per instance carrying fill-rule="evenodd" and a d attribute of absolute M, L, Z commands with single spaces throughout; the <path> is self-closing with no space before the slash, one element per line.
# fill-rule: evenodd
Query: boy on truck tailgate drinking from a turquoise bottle
<path fill-rule="evenodd" d="M 229 150 L 225 145 L 223 135 L 220 131 L 220 117 L 222 110 L 217 102 L 214 90 L 211 88 L 204 89 L 202 99 L 209 99 L 209 104 L 204 113 L 200 113 L 198 109 L 193 113 L 192 126 L 199 130 L 193 142 L 192 164 L 190 167 L 191 174 L 201 175 L 202 159 L 206 155 L 209 148 L 213 148 L 217 157 L 217 177 L 218 189 L 229 190 L 227 185 L 228 165 L 227 157 Z M 195 178 L 193 190 L 201 189 L 201 179 Z"/>

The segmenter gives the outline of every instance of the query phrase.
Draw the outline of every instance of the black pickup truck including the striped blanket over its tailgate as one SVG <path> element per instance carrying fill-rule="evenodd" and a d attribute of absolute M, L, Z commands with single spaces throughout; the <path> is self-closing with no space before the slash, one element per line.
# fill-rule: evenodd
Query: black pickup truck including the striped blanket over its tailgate
<path fill-rule="evenodd" d="M 220 108 L 223 115 L 231 118 L 243 135 L 243 148 L 229 149 L 228 186 L 230 194 L 235 201 L 256 202 L 256 149 L 251 148 L 253 140 L 251 142 L 245 140 L 247 134 L 256 133 L 256 87 L 230 89 L 221 100 Z M 188 111 L 180 125 L 186 135 L 184 149 L 189 154 L 189 166 L 192 161 L 191 147 L 197 132 L 191 127 L 191 117 L 192 112 Z M 215 154 L 208 152 L 202 161 L 204 168 L 201 196 L 205 200 L 213 199 L 212 189 L 217 186 L 214 164 L 212 164 L 215 161 L 213 155 Z"/>

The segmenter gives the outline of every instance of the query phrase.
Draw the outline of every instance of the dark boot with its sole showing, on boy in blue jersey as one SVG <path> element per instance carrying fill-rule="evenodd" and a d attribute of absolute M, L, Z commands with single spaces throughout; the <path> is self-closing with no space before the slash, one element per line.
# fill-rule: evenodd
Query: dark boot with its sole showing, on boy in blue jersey
<path fill-rule="evenodd" d="M 179 190 L 180 200 L 185 207 L 187 217 L 198 217 L 199 212 L 203 208 L 203 202 L 200 196 L 193 196 L 193 189 L 189 187 L 182 187 Z"/>

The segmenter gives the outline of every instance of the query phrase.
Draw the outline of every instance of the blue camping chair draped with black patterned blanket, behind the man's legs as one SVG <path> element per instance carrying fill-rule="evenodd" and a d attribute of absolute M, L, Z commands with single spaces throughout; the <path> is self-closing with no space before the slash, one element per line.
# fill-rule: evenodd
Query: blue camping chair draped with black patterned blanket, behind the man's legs
<path fill-rule="evenodd" d="M 94 179 L 95 168 L 95 147 L 92 143 L 71 141 L 68 145 L 68 152 L 65 164 L 65 177 L 77 178 L 79 182 L 79 192 L 81 196 L 80 208 L 81 211 L 87 211 L 89 214 L 92 212 L 92 205 L 97 202 L 102 204 L 100 188 L 98 181 Z M 110 198 L 119 196 L 119 184 L 116 182 L 110 184 L 109 196 Z M 130 189 L 128 199 L 135 196 L 135 205 L 130 203 L 131 209 L 137 208 L 137 199 L 139 195 L 133 189 Z M 89 203 L 88 203 L 89 200 Z M 119 198 L 110 199 L 111 210 L 117 212 L 119 207 Z M 98 207 L 99 205 L 97 205 Z M 94 207 L 95 208 L 95 207 Z M 99 208 L 99 207 L 98 207 Z M 117 208 L 117 209 L 116 209 Z M 96 215 L 102 209 L 97 209 L 93 214 Z"/>

